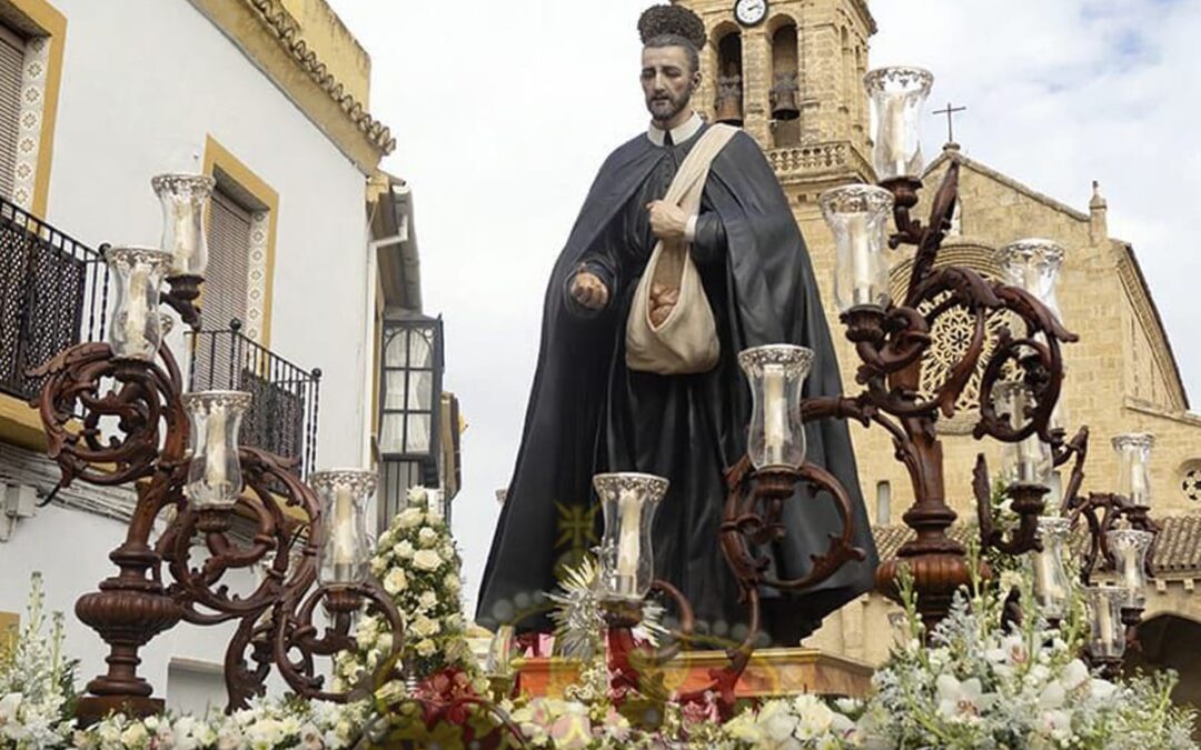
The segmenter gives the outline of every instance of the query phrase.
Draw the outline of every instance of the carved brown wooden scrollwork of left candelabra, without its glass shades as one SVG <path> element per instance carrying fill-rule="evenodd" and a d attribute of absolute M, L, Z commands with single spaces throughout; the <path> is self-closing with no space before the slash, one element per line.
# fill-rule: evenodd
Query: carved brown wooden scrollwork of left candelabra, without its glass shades
<path fill-rule="evenodd" d="M 392 599 L 374 582 L 316 586 L 316 559 L 327 523 L 316 493 L 294 474 L 294 463 L 252 448 L 240 450 L 249 494 L 234 509 L 193 510 L 185 498 L 190 425 L 183 382 L 167 347 L 161 364 L 116 359 L 106 343 L 62 352 L 36 374 L 47 378 L 36 406 L 61 470 L 60 487 L 76 479 L 96 485 L 135 482 L 137 502 L 125 541 L 109 557 L 120 572 L 76 605 L 84 623 L 109 644 L 108 671 L 88 684 L 79 703 L 83 721 L 112 710 L 147 715 L 162 710 L 137 674 L 138 650 L 180 620 L 213 625 L 239 620 L 226 653 L 228 709 L 244 708 L 264 692 L 271 666 L 297 694 L 346 701 L 349 692 L 323 688 L 315 656 L 352 646 L 351 613 L 364 604 L 402 642 Z M 82 412 L 82 420 L 77 414 Z M 82 425 L 76 427 L 76 425 Z M 291 520 L 287 508 L 299 509 Z M 151 546 L 156 523 L 165 528 Z M 249 526 L 249 545 L 232 533 Z M 303 542 L 300 539 L 303 538 Z M 192 557 L 203 551 L 193 564 Z M 162 563 L 171 581 L 165 586 Z M 250 594 L 232 593 L 227 574 L 262 564 L 265 576 Z M 313 624 L 318 602 L 333 620 Z M 247 666 L 246 650 L 255 667 Z"/>

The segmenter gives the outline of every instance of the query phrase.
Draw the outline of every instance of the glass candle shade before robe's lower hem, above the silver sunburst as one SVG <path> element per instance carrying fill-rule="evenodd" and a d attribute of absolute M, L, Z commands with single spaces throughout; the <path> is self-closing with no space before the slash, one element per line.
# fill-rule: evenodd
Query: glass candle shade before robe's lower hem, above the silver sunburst
<path fill-rule="evenodd" d="M 600 540 L 600 599 L 641 601 L 655 581 L 651 527 L 667 479 L 651 474 L 597 474 L 592 486 L 604 512 Z"/>

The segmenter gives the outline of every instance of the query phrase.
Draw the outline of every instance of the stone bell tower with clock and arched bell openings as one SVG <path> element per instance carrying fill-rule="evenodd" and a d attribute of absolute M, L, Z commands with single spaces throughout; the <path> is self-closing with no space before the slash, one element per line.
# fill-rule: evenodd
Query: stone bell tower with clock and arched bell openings
<path fill-rule="evenodd" d="M 867 0 L 675 1 L 701 17 L 709 37 L 699 109 L 759 142 L 794 205 L 815 212 L 818 192 L 874 181 Z"/>

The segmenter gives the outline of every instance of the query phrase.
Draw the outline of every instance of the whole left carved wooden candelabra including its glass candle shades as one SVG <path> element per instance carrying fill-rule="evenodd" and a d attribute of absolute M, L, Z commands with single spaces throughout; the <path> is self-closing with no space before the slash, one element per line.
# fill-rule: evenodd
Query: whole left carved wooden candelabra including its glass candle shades
<path fill-rule="evenodd" d="M 187 193 L 185 200 L 175 200 L 177 209 L 180 203 L 198 202 L 168 216 L 165 247 L 186 245 L 180 228 L 191 235 L 193 251 L 203 246 L 198 217 L 211 179 L 167 175 L 156 179 L 155 187 L 161 194 L 174 191 L 175 198 Z M 191 210 L 196 205 L 201 210 Z M 353 614 L 364 607 L 388 622 L 398 653 L 402 623 L 390 596 L 370 576 L 322 578 L 319 557 L 343 520 L 333 518 L 318 493 L 300 481 L 297 461 L 255 448 L 238 449 L 234 437 L 229 439 L 235 462 L 222 462 L 211 451 L 223 445 L 214 440 L 237 434 L 225 416 L 221 425 L 208 424 L 208 445 L 192 444 L 189 398 L 226 400 L 231 408 L 234 402 L 249 403 L 249 394 L 233 391 L 185 395 L 175 358 L 161 343 L 166 316 L 160 304 L 198 328 L 193 300 L 203 280 L 199 271 L 191 268 L 179 274 L 177 269 L 168 277 L 172 290 L 160 296 L 159 280 L 172 260 L 169 252 L 108 248 L 106 254 L 120 284 L 109 342 L 72 347 L 38 368 L 36 374 L 46 383 L 32 403 L 48 436 L 49 456 L 61 469 L 60 487 L 73 481 L 132 485 L 137 496 L 125 541 L 109 556 L 118 572 L 76 604 L 79 619 L 109 647 L 107 672 L 88 683 L 88 695 L 79 700 L 80 722 L 118 710 L 132 715 L 162 710 L 162 700 L 151 697 L 151 685 L 138 674 L 138 654 L 180 622 L 238 623 L 225 654 L 229 710 L 263 695 L 273 668 L 304 697 L 346 701 L 358 695 L 357 690 L 328 689 L 316 659 L 353 646 Z M 198 479 L 195 463 L 202 450 L 215 461 L 213 467 L 199 467 Z M 244 481 L 229 481 L 231 466 Z M 364 472 L 325 474 L 337 481 L 355 481 L 343 474 L 370 478 Z M 217 504 L 199 502 L 197 482 L 237 486 L 225 487 L 228 502 Z M 365 548 L 357 552 L 368 554 Z M 253 590 L 231 590 L 229 574 L 252 565 L 265 570 Z M 328 616 L 324 625 L 318 605 Z"/>

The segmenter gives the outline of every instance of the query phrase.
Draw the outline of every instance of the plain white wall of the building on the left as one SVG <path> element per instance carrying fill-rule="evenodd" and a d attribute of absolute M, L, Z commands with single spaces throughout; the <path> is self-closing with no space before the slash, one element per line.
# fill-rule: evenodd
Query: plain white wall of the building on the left
<path fill-rule="evenodd" d="M 323 371 L 318 467 L 358 466 L 370 398 L 364 175 L 186 0 L 55 6 L 67 34 L 46 220 L 94 247 L 155 245 L 151 175 L 199 170 L 211 134 L 280 196 L 269 346 Z M 172 338 L 183 364 L 180 335 Z M 6 468 L 0 455 L 0 475 Z M 30 572 L 42 571 L 48 607 L 68 614 L 82 683 L 103 671 L 106 652 L 74 601 L 115 572 L 108 553 L 124 534 L 124 522 L 52 505 L 0 542 L 0 611 L 24 612 Z M 247 590 L 251 575 L 232 582 Z M 143 649 L 141 672 L 162 696 L 172 658 L 220 664 L 232 632 L 179 625 Z"/>

